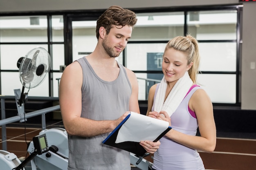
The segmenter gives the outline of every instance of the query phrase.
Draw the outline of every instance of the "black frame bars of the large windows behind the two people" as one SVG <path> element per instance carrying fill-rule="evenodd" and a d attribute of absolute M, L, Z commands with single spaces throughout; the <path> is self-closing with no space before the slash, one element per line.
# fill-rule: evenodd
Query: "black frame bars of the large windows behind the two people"
<path fill-rule="evenodd" d="M 222 103 L 213 103 L 215 106 L 240 106 L 240 93 L 241 93 L 241 42 L 242 42 L 242 13 L 243 5 L 241 4 L 232 4 L 232 5 L 210 5 L 210 6 L 195 6 L 195 7 L 157 7 L 157 8 L 134 8 L 130 9 L 135 13 L 158 13 L 158 12 L 184 12 L 184 35 L 188 32 L 187 25 L 187 13 L 189 11 L 210 11 L 210 10 L 236 10 L 237 11 L 237 24 L 236 24 L 236 40 L 199 40 L 200 42 L 236 42 L 236 72 L 211 72 L 211 71 L 202 71 L 202 74 L 236 74 L 236 103 L 235 104 L 222 104 Z M 2 16 L 25 16 L 25 15 L 47 15 L 47 42 L 0 42 L 2 44 L 47 44 L 48 52 L 52 56 L 52 45 L 53 44 L 64 44 L 64 57 L 65 65 L 68 65 L 72 62 L 72 20 L 83 20 L 85 18 L 98 18 L 101 13 L 105 10 L 76 10 L 76 11 L 46 11 L 46 12 L 14 12 L 14 13 L 0 13 Z M 64 42 L 52 42 L 52 16 L 53 15 L 63 15 L 63 35 Z M 1 36 L 1 35 L 0 35 Z M 129 41 L 128 43 L 167 43 L 168 41 Z M 123 65 L 126 66 L 126 49 L 123 52 Z M 51 66 L 52 67 L 52 66 Z M 162 73 L 162 71 L 136 71 L 132 70 L 135 73 Z M 18 70 L 2 70 L 0 68 L 0 79 L 2 72 L 18 72 Z M 59 73 L 59 70 L 49 71 L 49 97 L 53 96 L 53 73 Z M 1 83 L 0 83 L 0 93 L 1 93 Z M 147 100 L 139 101 L 142 104 L 146 104 Z"/>

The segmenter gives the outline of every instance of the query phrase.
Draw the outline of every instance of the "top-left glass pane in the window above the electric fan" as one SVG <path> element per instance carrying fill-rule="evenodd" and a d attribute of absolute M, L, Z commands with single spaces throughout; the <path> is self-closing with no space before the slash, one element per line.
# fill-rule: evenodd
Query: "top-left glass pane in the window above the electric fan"
<path fill-rule="evenodd" d="M 0 35 L 0 42 L 47 42 L 47 17 L 0 17 Z"/>

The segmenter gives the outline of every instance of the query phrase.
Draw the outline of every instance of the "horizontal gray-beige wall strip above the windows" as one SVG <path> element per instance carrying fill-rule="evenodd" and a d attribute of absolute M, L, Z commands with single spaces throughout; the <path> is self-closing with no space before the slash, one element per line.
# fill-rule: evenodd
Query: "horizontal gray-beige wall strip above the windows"
<path fill-rule="evenodd" d="M 239 0 L 1 0 L 0 12 L 106 9 L 111 5 L 144 8 L 237 4 L 238 2 Z"/>

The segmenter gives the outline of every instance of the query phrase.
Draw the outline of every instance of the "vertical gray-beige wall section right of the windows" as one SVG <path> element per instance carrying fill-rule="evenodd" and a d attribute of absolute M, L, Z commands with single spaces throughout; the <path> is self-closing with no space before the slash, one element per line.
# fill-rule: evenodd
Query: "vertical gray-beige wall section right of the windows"
<path fill-rule="evenodd" d="M 242 93 L 241 108 L 256 110 L 256 2 L 245 3 L 243 9 L 243 45 L 242 45 Z"/>

